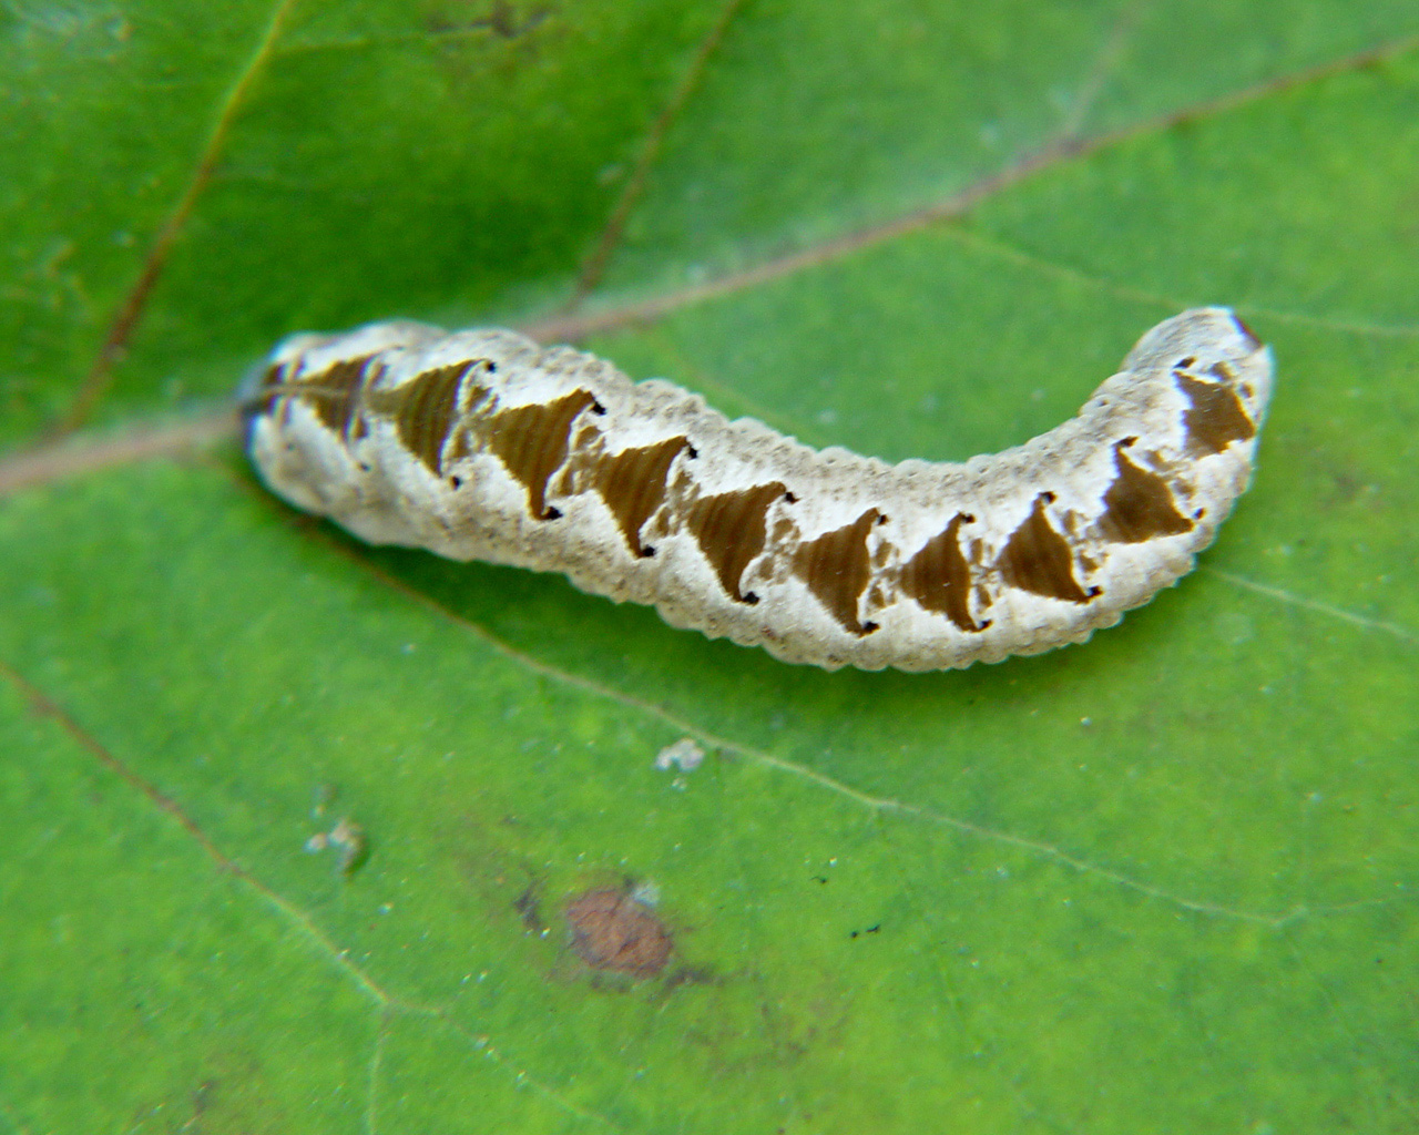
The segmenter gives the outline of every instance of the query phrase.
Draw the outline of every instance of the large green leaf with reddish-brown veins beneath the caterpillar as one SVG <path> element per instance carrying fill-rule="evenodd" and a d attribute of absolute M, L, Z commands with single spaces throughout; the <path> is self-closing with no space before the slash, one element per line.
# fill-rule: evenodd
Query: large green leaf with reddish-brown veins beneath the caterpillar
<path fill-rule="evenodd" d="M 1412 4 L 13 0 L 0 77 L 0 1131 L 1419 1122 Z M 1195 304 L 1250 494 L 965 672 L 365 548 L 210 409 L 404 315 L 965 458 Z"/>

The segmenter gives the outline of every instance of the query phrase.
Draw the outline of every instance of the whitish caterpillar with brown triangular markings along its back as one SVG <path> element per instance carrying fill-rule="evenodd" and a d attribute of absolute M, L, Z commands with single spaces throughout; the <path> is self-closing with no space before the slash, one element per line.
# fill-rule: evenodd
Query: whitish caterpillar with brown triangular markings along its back
<path fill-rule="evenodd" d="M 810 450 L 509 331 L 297 335 L 260 382 L 263 478 L 370 543 L 565 572 L 788 663 L 938 670 L 1081 641 L 1188 572 L 1271 355 L 1183 312 L 1078 417 L 965 464 Z"/>

